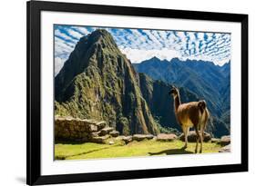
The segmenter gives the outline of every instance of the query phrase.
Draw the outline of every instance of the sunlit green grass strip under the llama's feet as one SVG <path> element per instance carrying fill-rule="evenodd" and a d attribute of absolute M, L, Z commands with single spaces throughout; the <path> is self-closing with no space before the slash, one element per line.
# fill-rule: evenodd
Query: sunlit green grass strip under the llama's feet
<path fill-rule="evenodd" d="M 81 144 L 56 143 L 55 158 L 56 160 L 81 160 L 194 153 L 195 142 L 189 142 L 186 150 L 181 149 L 183 145 L 184 142 L 181 141 L 157 142 L 155 140 L 130 142 L 127 145 L 117 140 L 112 145 L 92 142 Z M 216 143 L 203 143 L 203 153 L 219 152 L 220 148 L 220 145 Z"/>

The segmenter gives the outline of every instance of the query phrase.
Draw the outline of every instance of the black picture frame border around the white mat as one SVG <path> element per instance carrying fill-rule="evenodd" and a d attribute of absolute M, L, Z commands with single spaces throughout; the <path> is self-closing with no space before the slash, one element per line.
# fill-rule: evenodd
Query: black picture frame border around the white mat
<path fill-rule="evenodd" d="M 29 1 L 27 11 L 27 149 L 26 183 L 29 185 L 83 181 L 111 181 L 168 177 L 194 174 L 248 171 L 248 15 L 196 11 L 181 11 L 114 5 L 84 5 L 56 2 Z M 40 119 L 41 119 L 41 70 L 40 24 L 42 11 L 94 13 L 101 15 L 138 15 L 148 17 L 180 18 L 241 23 L 241 164 L 202 167 L 183 167 L 140 171 L 110 171 L 65 175 L 41 175 Z"/>

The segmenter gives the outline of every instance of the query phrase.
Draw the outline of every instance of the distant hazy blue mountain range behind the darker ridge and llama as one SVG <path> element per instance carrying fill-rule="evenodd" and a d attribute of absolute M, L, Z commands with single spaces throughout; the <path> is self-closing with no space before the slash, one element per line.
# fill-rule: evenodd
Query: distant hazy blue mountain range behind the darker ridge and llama
<path fill-rule="evenodd" d="M 186 87 L 198 99 L 206 100 L 214 124 L 209 130 L 217 136 L 230 132 L 230 62 L 219 66 L 205 61 L 180 61 L 178 58 L 167 61 L 153 57 L 133 65 L 138 73 Z M 186 103 L 186 100 L 181 99 L 181 102 Z"/>

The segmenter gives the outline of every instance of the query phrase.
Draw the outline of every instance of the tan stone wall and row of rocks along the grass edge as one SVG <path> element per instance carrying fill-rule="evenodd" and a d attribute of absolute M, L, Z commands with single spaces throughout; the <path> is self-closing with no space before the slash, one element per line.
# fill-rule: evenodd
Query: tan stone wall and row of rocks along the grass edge
<path fill-rule="evenodd" d="M 143 140 L 157 140 L 160 142 L 171 142 L 174 140 L 184 141 L 184 134 L 179 137 L 174 133 L 159 133 L 157 136 L 152 134 L 133 134 L 129 136 L 119 136 L 119 132 L 109 127 L 105 121 L 82 120 L 73 117 L 55 118 L 55 140 L 56 142 L 96 142 L 106 143 L 109 138 L 117 138 L 126 144 L 128 142 Z M 196 134 L 189 132 L 189 142 L 196 142 Z M 211 138 L 210 133 L 204 132 L 204 142 L 216 142 L 224 146 L 220 152 L 230 152 L 230 136 L 222 136 L 220 139 Z M 109 142 L 110 144 L 110 142 Z"/>

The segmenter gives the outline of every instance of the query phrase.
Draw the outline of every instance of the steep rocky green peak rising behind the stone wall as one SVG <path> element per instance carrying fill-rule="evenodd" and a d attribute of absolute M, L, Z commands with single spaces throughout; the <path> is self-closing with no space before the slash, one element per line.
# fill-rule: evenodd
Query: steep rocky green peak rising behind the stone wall
<path fill-rule="evenodd" d="M 106 30 L 80 39 L 56 75 L 55 94 L 59 115 L 104 120 L 126 135 L 158 132 L 138 73 Z"/>

